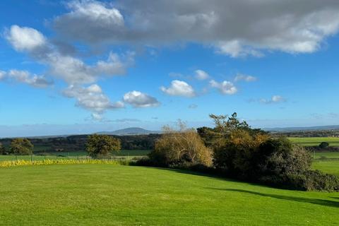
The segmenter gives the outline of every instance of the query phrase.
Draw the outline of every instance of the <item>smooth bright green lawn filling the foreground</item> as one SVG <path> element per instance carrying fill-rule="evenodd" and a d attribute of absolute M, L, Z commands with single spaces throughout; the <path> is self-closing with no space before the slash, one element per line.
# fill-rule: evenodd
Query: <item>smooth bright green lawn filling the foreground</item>
<path fill-rule="evenodd" d="M 339 194 L 169 169 L 0 168 L 0 225 L 339 225 Z"/>

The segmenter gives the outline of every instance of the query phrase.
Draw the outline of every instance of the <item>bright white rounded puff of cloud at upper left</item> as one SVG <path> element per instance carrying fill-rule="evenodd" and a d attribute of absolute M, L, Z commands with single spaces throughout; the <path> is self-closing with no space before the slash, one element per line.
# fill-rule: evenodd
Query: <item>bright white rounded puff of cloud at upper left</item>
<path fill-rule="evenodd" d="M 33 51 L 47 44 L 47 40 L 41 32 L 18 25 L 12 25 L 11 29 L 6 31 L 5 36 L 18 51 Z"/>

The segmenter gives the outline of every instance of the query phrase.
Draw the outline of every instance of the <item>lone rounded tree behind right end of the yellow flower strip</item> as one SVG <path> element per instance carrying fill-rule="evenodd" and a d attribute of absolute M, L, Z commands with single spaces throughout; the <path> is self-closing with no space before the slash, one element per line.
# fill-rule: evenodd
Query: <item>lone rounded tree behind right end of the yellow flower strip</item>
<path fill-rule="evenodd" d="M 86 142 L 88 155 L 95 158 L 105 158 L 112 152 L 118 152 L 120 148 L 120 140 L 107 135 L 93 134 L 88 136 Z"/>

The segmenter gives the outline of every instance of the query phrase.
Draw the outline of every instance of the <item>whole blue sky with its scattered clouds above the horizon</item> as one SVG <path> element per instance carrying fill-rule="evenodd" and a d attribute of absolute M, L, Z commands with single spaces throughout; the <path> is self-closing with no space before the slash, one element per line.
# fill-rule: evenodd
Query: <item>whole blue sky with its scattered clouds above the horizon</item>
<path fill-rule="evenodd" d="M 0 1 L 0 136 L 339 124 L 338 4 L 191 2 Z"/>

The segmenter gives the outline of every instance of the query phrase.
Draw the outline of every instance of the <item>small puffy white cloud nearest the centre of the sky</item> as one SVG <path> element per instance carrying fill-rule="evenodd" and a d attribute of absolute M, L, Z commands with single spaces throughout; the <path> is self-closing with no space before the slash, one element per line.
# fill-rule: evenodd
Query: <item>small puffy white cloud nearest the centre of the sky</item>
<path fill-rule="evenodd" d="M 194 92 L 194 88 L 191 85 L 187 84 L 184 81 L 174 80 L 171 82 L 169 88 L 165 88 L 164 86 L 160 87 L 162 92 L 167 95 L 172 96 L 182 96 L 182 97 L 194 97 L 196 93 Z"/>

